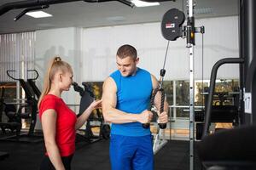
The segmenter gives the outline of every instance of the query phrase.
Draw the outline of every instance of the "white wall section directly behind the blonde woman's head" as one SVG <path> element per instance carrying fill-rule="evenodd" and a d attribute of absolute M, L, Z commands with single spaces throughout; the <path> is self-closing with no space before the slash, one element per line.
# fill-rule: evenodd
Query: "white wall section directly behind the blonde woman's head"
<path fill-rule="evenodd" d="M 61 28 L 52 30 L 36 31 L 36 66 L 39 72 L 38 87 L 42 89 L 44 82 L 44 73 L 47 70 L 49 59 L 55 55 L 61 56 L 61 59 L 67 61 L 73 66 L 74 79 L 77 79 L 79 71 L 79 29 L 77 28 Z M 78 93 L 73 91 L 62 94 L 67 104 L 78 103 Z"/>

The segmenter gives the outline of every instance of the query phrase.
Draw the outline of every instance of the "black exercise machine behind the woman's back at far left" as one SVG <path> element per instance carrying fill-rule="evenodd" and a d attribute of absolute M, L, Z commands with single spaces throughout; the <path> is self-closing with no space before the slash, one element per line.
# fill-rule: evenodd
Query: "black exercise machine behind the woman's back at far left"
<path fill-rule="evenodd" d="M 15 141 L 15 142 L 26 142 L 26 143 L 38 143 L 43 141 L 42 135 L 35 135 L 34 128 L 37 122 L 37 114 L 38 114 L 38 100 L 35 99 L 35 95 L 32 91 L 32 88 L 28 86 L 28 84 L 21 78 L 15 78 L 10 75 L 10 72 L 15 71 L 7 71 L 7 75 L 15 81 L 19 81 L 21 87 L 24 89 L 26 94 L 26 104 L 24 103 L 15 103 L 15 105 L 20 105 L 19 110 L 15 113 L 15 116 L 18 119 L 18 122 L 21 124 L 21 119 L 30 119 L 30 127 L 28 133 L 17 133 L 15 136 L 4 137 L 1 140 Z M 25 111 L 22 111 L 25 110 Z M 6 113 L 7 116 L 11 116 L 11 113 Z"/>

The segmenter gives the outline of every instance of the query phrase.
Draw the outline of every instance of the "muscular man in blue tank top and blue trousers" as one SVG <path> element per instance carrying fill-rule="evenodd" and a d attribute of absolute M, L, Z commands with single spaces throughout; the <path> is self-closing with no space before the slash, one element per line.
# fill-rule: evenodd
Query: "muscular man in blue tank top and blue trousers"
<path fill-rule="evenodd" d="M 131 45 L 121 46 L 116 54 L 118 70 L 103 84 L 102 111 L 106 122 L 112 122 L 110 161 L 112 170 L 152 170 L 154 154 L 149 128 L 143 123 L 152 119 L 148 111 L 150 96 L 158 81 L 137 64 L 137 50 Z M 160 93 L 154 105 L 160 111 Z M 168 121 L 168 104 L 159 114 L 161 123 Z"/>

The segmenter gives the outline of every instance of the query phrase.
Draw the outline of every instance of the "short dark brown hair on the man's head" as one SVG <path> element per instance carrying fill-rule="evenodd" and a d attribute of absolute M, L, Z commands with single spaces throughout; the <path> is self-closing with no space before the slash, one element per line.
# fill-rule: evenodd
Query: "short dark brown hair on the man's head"
<path fill-rule="evenodd" d="M 126 57 L 131 57 L 132 59 L 137 59 L 137 50 L 129 44 L 122 45 L 119 47 L 116 55 L 120 59 L 125 59 Z"/>

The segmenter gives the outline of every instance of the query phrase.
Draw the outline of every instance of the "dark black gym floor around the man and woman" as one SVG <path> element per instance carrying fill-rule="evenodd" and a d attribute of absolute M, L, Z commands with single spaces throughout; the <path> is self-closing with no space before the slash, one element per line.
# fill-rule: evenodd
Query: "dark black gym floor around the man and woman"
<path fill-rule="evenodd" d="M 110 170 L 108 157 L 109 140 L 88 144 L 77 143 L 73 156 L 73 170 Z M 35 170 L 44 156 L 44 143 L 24 144 L 1 141 L 0 150 L 9 152 L 9 157 L 0 161 L 1 170 Z M 169 142 L 154 156 L 155 170 L 188 170 L 189 142 L 169 140 Z M 201 170 L 200 162 L 195 155 L 195 170 Z"/>

